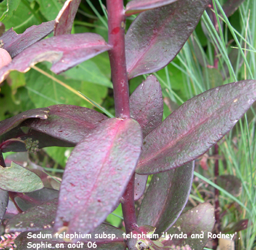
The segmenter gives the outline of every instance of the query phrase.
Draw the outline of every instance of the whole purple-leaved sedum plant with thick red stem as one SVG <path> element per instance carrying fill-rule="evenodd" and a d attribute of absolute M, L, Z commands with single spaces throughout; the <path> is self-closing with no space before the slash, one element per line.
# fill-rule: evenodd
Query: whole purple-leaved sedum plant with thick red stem
<path fill-rule="evenodd" d="M 33 244 L 36 249 L 60 244 L 62 249 L 203 249 L 215 222 L 212 205 L 203 203 L 181 214 L 191 190 L 194 160 L 249 109 L 256 99 L 256 81 L 205 91 L 162 121 L 157 78 L 148 75 L 131 96 L 128 81 L 172 61 L 209 1 L 133 0 L 125 9 L 122 0 L 106 2 L 108 43 L 98 34 L 71 35 L 80 0 L 67 0 L 51 22 L 19 35 L 9 30 L 0 37 L 1 47 L 12 58 L 0 69 L 1 82 L 12 70 L 27 72 L 41 61 L 52 62 L 52 72 L 59 74 L 108 51 L 115 103 L 114 118 L 85 107 L 53 105 L 0 122 L 1 220 L 9 197 L 17 210 L 5 231 L 21 232 L 15 240 L 18 249 Z M 138 16 L 125 34 L 126 18 L 133 14 Z M 43 39 L 52 31 L 53 37 Z M 5 152 L 50 146 L 75 146 L 60 191 L 47 188 L 40 174 L 16 163 L 6 167 L 3 160 Z M 149 174 L 153 177 L 144 193 Z M 143 194 L 137 216 L 134 201 Z M 104 223 L 119 203 L 125 233 Z M 54 237 L 61 232 L 63 238 Z M 168 237 L 181 232 L 182 239 Z M 202 233 L 203 238 L 192 238 Z M 53 236 L 28 238 L 31 234 Z M 85 234 L 92 238 L 85 239 Z"/>

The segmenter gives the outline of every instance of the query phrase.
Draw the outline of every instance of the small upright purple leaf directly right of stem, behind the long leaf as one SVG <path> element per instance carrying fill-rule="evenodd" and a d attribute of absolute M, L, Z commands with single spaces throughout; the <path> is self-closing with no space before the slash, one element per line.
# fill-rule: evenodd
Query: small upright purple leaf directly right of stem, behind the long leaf
<path fill-rule="evenodd" d="M 155 76 L 148 76 L 131 94 L 130 112 L 142 127 L 143 138 L 162 122 L 163 95 Z"/>

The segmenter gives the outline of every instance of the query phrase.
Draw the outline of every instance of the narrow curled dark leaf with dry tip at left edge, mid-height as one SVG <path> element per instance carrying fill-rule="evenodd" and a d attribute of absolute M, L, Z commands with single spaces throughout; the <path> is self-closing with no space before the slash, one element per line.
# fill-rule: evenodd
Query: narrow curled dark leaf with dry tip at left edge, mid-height
<path fill-rule="evenodd" d="M 49 110 L 44 107 L 42 109 L 33 109 L 24 111 L 18 115 L 13 116 L 12 118 L 1 120 L 0 122 L 0 136 L 6 132 L 12 130 L 13 128 L 19 126 L 20 123 L 28 118 L 39 118 L 47 119 Z"/>

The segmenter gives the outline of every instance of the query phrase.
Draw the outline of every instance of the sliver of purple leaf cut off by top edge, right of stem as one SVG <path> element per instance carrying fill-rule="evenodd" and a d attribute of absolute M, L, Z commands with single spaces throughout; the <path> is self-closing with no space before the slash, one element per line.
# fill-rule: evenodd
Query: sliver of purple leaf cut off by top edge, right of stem
<path fill-rule="evenodd" d="M 130 16 L 145 10 L 169 5 L 176 1 L 177 0 L 133 0 L 127 3 L 125 14 L 126 16 Z"/>

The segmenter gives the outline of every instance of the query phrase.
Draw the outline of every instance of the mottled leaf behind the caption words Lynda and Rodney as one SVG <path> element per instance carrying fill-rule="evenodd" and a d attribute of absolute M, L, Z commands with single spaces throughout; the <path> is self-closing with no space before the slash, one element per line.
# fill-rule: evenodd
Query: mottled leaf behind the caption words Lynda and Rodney
<path fill-rule="evenodd" d="M 164 247 L 171 245 L 185 246 L 189 245 L 191 249 L 201 250 L 204 248 L 208 239 L 208 232 L 211 232 L 215 223 L 214 217 L 214 207 L 210 203 L 201 203 L 186 213 L 181 214 L 179 219 L 177 219 L 175 225 L 167 231 L 166 235 L 180 235 L 184 236 L 187 234 L 187 239 L 183 236 L 180 238 L 163 239 L 160 238 L 159 241 L 164 245 Z M 192 234 L 199 234 L 203 238 L 192 238 Z"/>

